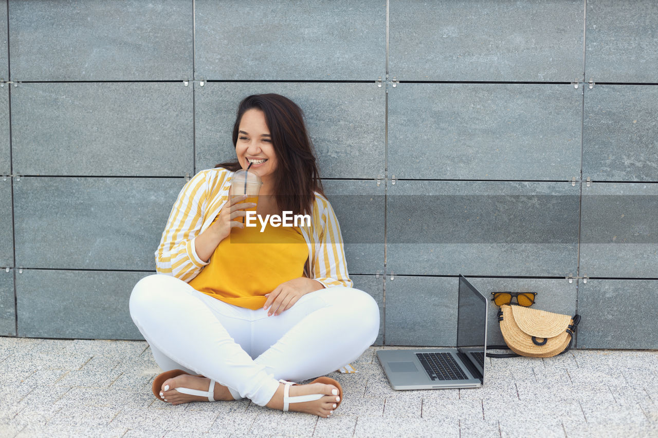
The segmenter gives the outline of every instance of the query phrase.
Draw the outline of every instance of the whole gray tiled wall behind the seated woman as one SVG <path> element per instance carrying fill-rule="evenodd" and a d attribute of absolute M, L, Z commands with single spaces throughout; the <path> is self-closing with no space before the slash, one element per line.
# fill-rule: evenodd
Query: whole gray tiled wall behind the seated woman
<path fill-rule="evenodd" d="M 453 345 L 465 274 L 579 312 L 578 347 L 658 348 L 655 28 L 632 0 L 0 0 L 0 334 L 139 339 L 184 177 L 272 92 L 305 111 L 377 343 Z"/>

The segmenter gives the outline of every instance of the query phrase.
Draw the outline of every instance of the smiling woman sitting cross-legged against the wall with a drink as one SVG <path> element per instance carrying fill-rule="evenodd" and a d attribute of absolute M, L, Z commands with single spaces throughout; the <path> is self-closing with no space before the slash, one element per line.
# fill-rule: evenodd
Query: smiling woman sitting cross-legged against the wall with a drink
<path fill-rule="evenodd" d="M 289 381 L 358 358 L 377 337 L 378 306 L 351 287 L 301 109 L 280 95 L 249 96 L 233 143 L 236 161 L 199 172 L 182 189 L 155 253 L 159 274 L 130 297 L 133 321 L 168 370 L 153 392 L 171 404 L 247 397 L 326 418 L 342 400 L 338 382 Z M 240 168 L 263 182 L 257 205 L 228 197 Z M 309 214 L 311 224 L 261 233 L 260 224 L 243 224 L 253 207 L 261 217 Z"/>

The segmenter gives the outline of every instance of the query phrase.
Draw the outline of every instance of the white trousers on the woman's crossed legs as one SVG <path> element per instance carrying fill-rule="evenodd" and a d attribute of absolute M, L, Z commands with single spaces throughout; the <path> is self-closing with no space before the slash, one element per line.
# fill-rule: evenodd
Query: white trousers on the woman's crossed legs
<path fill-rule="evenodd" d="M 375 341 L 379 308 L 367 293 L 330 287 L 308 293 L 278 316 L 201 293 L 157 274 L 130 295 L 130 316 L 163 370 L 180 368 L 228 387 L 235 399 L 265 406 L 278 379 L 324 376 Z"/>

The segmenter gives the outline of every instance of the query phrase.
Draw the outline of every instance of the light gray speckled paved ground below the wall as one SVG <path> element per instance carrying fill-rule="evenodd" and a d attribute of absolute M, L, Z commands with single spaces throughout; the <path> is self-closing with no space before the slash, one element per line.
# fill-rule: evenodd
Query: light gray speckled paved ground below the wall
<path fill-rule="evenodd" d="M 324 419 L 157 401 L 145 342 L 0 337 L 0 437 L 658 437 L 658 351 L 488 359 L 482 389 L 393 391 L 378 348 L 332 374 L 345 397 Z"/>

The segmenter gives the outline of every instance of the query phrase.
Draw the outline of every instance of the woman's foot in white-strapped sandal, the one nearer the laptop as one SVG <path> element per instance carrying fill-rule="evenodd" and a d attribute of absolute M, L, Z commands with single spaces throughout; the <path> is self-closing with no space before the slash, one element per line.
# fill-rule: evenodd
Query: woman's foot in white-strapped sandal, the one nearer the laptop
<path fill-rule="evenodd" d="M 274 397 L 272 397 L 268 404 L 266 404 L 268 408 L 283 410 L 285 386 L 286 385 L 284 383 L 279 383 L 279 387 L 276 389 Z M 340 397 L 338 397 L 338 388 L 336 388 L 334 385 L 325 385 L 324 383 L 290 385 L 290 397 L 311 394 L 324 394 L 324 397 L 309 402 L 290 403 L 288 405 L 288 410 L 307 412 L 308 414 L 327 418 L 334 412 L 334 409 L 336 406 L 338 406 L 338 402 L 340 402 Z"/>

